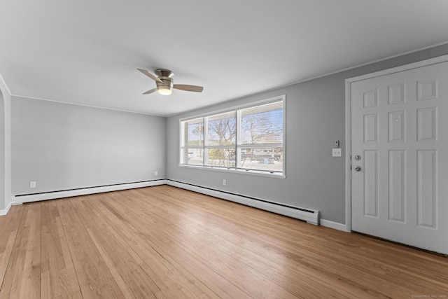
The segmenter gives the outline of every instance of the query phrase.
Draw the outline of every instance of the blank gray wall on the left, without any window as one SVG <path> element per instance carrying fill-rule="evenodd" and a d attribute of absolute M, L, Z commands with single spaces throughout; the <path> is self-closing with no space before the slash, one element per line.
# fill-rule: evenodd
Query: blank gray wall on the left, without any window
<path fill-rule="evenodd" d="M 11 113 L 13 195 L 165 179 L 166 118 L 25 97 Z"/>

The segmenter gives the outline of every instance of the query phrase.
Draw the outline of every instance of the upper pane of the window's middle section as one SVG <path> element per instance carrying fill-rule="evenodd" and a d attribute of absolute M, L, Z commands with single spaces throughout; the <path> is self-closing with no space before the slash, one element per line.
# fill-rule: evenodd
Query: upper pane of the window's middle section
<path fill-rule="evenodd" d="M 230 111 L 216 116 L 209 116 L 207 145 L 229 146 L 236 143 L 237 118 L 236 112 Z"/>

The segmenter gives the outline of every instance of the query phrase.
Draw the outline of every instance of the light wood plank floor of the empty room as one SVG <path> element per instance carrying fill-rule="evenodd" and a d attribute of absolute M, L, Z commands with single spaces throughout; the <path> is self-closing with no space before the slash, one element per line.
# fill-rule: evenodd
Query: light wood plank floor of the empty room
<path fill-rule="evenodd" d="M 0 217 L 0 298 L 447 298 L 448 258 L 170 186 Z"/>

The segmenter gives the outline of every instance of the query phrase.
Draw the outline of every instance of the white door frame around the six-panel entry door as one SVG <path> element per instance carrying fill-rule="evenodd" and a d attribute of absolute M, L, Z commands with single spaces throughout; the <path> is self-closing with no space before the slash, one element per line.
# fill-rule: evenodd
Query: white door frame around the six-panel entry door
<path fill-rule="evenodd" d="M 374 73 L 347 78 L 345 80 L 345 231 L 351 232 L 351 83 L 365 79 L 375 78 L 379 76 L 398 73 L 400 71 L 408 71 L 409 69 L 417 69 L 426 67 L 431 64 L 447 62 L 448 55 L 442 55 L 428 60 L 421 60 L 405 64 L 400 67 L 375 71 Z"/>

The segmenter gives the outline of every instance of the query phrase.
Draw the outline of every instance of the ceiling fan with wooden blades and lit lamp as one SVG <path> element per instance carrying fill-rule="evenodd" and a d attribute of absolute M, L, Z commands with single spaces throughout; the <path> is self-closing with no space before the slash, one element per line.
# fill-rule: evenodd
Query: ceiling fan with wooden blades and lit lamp
<path fill-rule="evenodd" d="M 171 95 L 173 92 L 173 88 L 193 92 L 202 92 L 202 90 L 204 90 L 202 86 L 197 85 L 173 84 L 172 76 L 174 76 L 174 73 L 169 69 L 156 69 L 155 74 L 157 76 L 144 69 L 138 70 L 141 71 L 142 74 L 145 74 L 149 78 L 153 79 L 155 81 L 155 84 L 157 85 L 156 88 L 144 92 L 144 95 L 149 95 L 150 93 L 153 93 L 155 91 L 159 92 L 160 95 Z"/>

